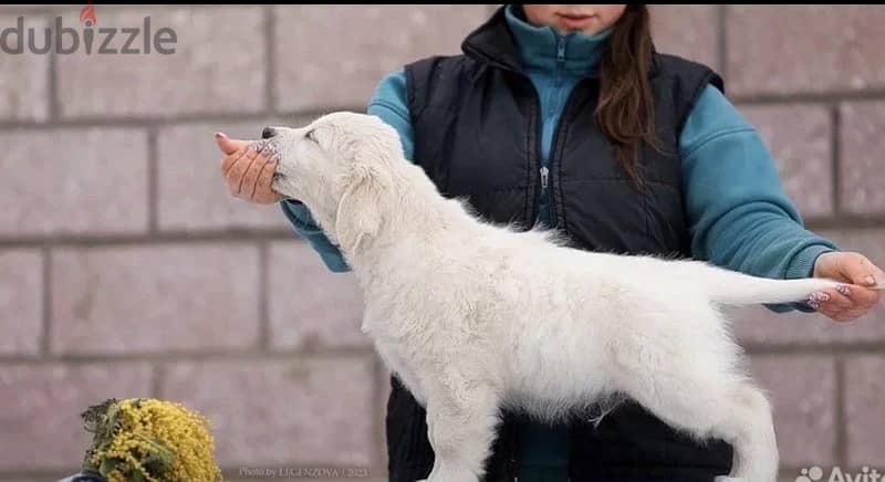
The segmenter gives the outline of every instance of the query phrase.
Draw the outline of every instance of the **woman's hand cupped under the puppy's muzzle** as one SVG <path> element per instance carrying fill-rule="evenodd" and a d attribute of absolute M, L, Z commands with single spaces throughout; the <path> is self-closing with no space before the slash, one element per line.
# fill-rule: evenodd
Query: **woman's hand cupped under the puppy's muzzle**
<path fill-rule="evenodd" d="M 230 195 L 249 202 L 271 205 L 284 199 L 271 188 L 277 171 L 277 158 L 261 151 L 262 144 L 231 139 L 222 133 L 215 135 L 218 148 L 225 154 L 221 175 Z"/>

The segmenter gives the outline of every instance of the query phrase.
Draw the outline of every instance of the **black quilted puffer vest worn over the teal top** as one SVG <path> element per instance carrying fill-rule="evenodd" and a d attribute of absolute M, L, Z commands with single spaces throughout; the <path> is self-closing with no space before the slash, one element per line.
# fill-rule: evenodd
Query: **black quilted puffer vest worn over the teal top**
<path fill-rule="evenodd" d="M 434 56 L 406 66 L 415 161 L 448 197 L 466 197 L 487 220 L 531 227 L 541 190 L 540 103 L 504 19 L 503 7 L 467 36 L 464 55 Z M 598 80 L 571 94 L 554 134 L 550 206 L 555 227 L 581 249 L 689 256 L 678 139 L 702 90 L 721 78 L 710 69 L 656 54 L 649 74 L 662 154 L 642 153 L 644 190 L 632 186 L 593 115 Z M 426 478 L 434 453 L 424 409 L 392 378 L 387 405 L 389 480 Z M 520 417 L 504 412 L 488 482 L 512 481 L 519 463 Z M 595 427 L 569 428 L 569 473 L 576 481 L 667 479 L 711 482 L 727 474 L 731 448 L 699 446 L 634 402 Z"/>

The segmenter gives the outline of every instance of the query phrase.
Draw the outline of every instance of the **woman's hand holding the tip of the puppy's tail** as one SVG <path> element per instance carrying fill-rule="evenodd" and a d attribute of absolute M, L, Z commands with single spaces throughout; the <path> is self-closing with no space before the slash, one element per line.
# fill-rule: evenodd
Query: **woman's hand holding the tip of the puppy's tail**
<path fill-rule="evenodd" d="M 851 286 L 815 293 L 809 304 L 836 322 L 865 315 L 882 298 L 876 285 L 885 284 L 885 272 L 861 253 L 830 252 L 818 256 L 814 277 L 829 277 Z"/>

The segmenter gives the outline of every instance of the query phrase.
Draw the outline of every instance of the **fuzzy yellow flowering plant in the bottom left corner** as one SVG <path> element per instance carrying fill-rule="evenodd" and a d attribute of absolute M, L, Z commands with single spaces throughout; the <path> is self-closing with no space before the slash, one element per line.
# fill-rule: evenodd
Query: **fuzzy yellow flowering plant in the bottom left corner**
<path fill-rule="evenodd" d="M 208 420 L 180 404 L 110 399 L 82 413 L 93 442 L 83 474 L 108 482 L 215 482 L 215 441 Z"/>

